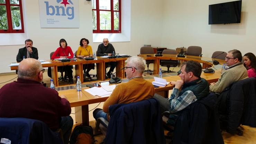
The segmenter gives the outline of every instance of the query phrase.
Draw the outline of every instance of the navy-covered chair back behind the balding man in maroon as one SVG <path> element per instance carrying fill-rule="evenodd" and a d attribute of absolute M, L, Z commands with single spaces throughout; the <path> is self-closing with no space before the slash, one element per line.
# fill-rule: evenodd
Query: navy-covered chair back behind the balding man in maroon
<path fill-rule="evenodd" d="M 29 118 L 0 118 L 0 138 L 13 144 L 62 144 L 61 136 L 44 122 Z"/>

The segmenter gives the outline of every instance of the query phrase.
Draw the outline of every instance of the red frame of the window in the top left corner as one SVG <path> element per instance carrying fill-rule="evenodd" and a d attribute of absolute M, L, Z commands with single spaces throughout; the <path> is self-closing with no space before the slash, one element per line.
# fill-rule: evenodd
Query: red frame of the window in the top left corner
<path fill-rule="evenodd" d="M 23 22 L 23 12 L 22 12 L 22 3 L 19 0 L 19 4 L 10 4 L 10 0 L 5 0 L 5 3 L 0 3 L 2 6 L 6 6 L 6 16 L 8 21 L 8 29 L 0 29 L 0 33 L 24 33 L 24 22 Z M 21 29 L 13 29 L 12 28 L 12 18 L 11 18 L 11 6 L 19 6 L 20 7 L 20 22 Z"/>

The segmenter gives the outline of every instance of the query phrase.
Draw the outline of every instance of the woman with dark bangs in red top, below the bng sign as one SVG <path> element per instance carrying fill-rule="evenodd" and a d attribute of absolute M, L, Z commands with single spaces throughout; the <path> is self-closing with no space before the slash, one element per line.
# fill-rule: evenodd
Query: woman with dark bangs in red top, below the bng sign
<path fill-rule="evenodd" d="M 70 56 L 69 56 L 70 54 Z M 60 47 L 56 49 L 56 51 L 53 53 L 51 59 L 55 58 L 73 58 L 74 53 L 71 49 L 71 47 L 67 46 L 67 42 L 65 39 L 60 40 Z M 65 71 L 65 76 L 64 76 L 64 81 L 67 81 L 66 77 L 68 77 L 68 81 L 70 84 L 74 84 L 73 81 L 73 66 L 63 66 L 63 67 L 58 67 L 58 69 L 63 69 Z"/>

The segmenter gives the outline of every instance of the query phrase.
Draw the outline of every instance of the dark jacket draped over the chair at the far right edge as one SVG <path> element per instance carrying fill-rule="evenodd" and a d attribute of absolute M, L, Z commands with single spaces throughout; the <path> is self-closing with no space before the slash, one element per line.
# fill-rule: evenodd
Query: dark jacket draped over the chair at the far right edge
<path fill-rule="evenodd" d="M 221 129 L 234 134 L 242 125 L 256 127 L 256 79 L 239 80 L 218 97 Z"/>

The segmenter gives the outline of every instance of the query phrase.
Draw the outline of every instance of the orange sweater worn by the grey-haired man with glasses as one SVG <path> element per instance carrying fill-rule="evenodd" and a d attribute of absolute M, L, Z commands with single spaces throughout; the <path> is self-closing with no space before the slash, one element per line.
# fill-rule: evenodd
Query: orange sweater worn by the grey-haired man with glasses
<path fill-rule="evenodd" d="M 143 78 L 134 78 L 127 83 L 117 85 L 112 94 L 103 104 L 103 112 L 109 113 L 109 106 L 113 104 L 128 104 L 152 98 L 155 88 L 152 83 Z"/>

